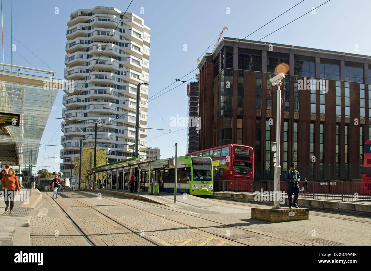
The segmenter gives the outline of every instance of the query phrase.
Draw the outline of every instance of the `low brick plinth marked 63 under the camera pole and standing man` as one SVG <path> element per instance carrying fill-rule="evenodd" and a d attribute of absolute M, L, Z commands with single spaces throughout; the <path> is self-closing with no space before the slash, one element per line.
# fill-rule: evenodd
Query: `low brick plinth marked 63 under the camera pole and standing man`
<path fill-rule="evenodd" d="M 251 208 L 251 218 L 264 220 L 268 222 L 306 220 L 309 219 L 309 209 L 305 208 L 272 209 L 272 207 Z"/>

